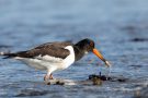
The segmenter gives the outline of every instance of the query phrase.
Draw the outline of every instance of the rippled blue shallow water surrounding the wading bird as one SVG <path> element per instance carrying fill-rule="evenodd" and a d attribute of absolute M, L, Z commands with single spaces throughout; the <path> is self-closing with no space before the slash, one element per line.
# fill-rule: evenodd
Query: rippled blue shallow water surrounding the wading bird
<path fill-rule="evenodd" d="M 45 85 L 45 72 L 0 58 L 0 97 L 130 98 L 148 85 L 147 0 L 1 0 L 0 51 L 12 52 L 47 41 L 90 37 L 112 62 L 111 76 L 127 82 L 93 85 Z M 55 77 L 88 79 L 107 73 L 93 54 L 86 56 Z M 144 94 L 145 95 L 145 94 Z"/>

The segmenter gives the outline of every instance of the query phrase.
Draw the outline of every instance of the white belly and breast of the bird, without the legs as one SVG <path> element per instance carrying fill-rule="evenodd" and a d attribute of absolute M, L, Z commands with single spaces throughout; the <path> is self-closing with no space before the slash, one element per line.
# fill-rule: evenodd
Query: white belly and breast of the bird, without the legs
<path fill-rule="evenodd" d="M 50 56 L 36 57 L 36 59 L 30 58 L 15 58 L 16 60 L 21 60 L 25 64 L 31 68 L 35 68 L 37 70 L 64 70 L 70 66 L 75 62 L 75 53 L 73 48 L 71 46 L 66 47 L 70 51 L 70 54 L 66 59 L 54 58 Z"/>

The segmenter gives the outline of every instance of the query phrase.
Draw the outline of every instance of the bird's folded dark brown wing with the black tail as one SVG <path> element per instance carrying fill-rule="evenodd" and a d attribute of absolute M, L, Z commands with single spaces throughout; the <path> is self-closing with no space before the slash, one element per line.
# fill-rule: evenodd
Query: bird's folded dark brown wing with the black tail
<path fill-rule="evenodd" d="M 49 56 L 54 58 L 65 59 L 67 56 L 70 54 L 70 51 L 68 49 L 65 49 L 65 47 L 71 46 L 69 42 L 47 42 L 44 45 L 41 45 L 34 49 L 27 50 L 27 51 L 20 51 L 16 53 L 8 53 L 5 58 L 37 58 Z M 41 58 L 39 58 L 41 59 Z"/>

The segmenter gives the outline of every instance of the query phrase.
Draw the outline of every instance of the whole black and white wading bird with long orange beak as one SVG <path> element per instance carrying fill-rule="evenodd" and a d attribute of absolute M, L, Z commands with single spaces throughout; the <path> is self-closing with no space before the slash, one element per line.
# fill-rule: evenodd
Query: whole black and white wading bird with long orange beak
<path fill-rule="evenodd" d="M 93 52 L 110 66 L 109 61 L 94 48 L 94 41 L 89 38 L 82 39 L 77 44 L 67 41 L 47 42 L 31 50 L 3 53 L 2 56 L 4 56 L 4 59 L 12 58 L 20 60 L 37 70 L 46 70 L 47 74 L 44 76 L 44 81 L 48 81 L 53 79 L 54 71 L 67 69 L 88 52 Z"/>

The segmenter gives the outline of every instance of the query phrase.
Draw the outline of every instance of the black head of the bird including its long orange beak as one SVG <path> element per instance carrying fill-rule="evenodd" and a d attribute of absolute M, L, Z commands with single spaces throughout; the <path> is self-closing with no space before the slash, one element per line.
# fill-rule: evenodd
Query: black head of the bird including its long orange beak
<path fill-rule="evenodd" d="M 100 58 L 107 66 L 110 66 L 110 62 L 104 59 L 101 52 L 95 48 L 95 44 L 93 40 L 86 38 L 78 42 L 78 45 L 83 49 L 84 53 L 93 52 L 98 58 Z"/>

